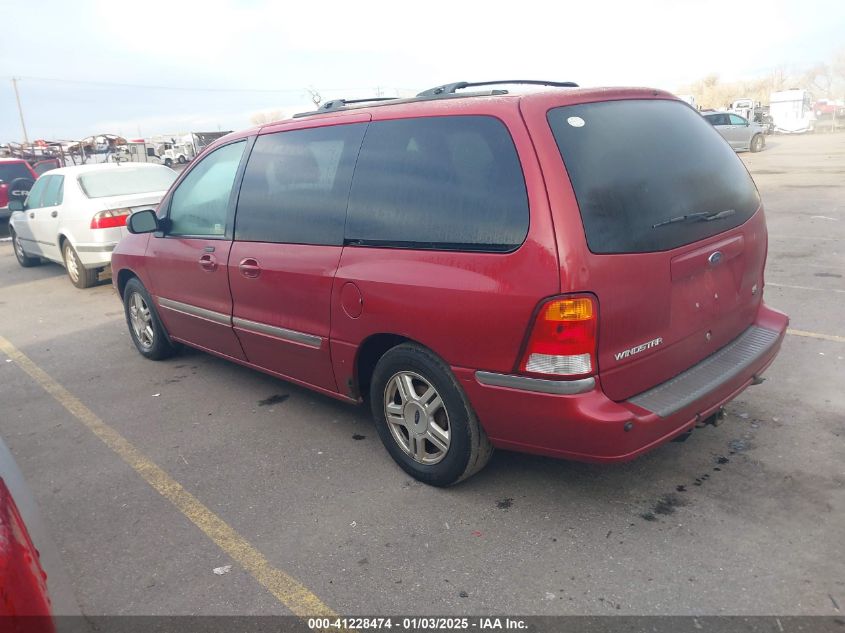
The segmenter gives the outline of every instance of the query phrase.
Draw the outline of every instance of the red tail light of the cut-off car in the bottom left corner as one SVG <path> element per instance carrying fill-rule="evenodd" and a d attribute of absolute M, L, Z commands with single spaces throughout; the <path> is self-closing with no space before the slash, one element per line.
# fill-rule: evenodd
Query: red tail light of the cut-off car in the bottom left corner
<path fill-rule="evenodd" d="M 46 581 L 38 550 L 0 479 L 0 620 L 11 619 L 13 631 L 54 631 Z M 27 621 L 19 621 L 22 628 L 15 628 L 16 619 L 24 616 Z"/>

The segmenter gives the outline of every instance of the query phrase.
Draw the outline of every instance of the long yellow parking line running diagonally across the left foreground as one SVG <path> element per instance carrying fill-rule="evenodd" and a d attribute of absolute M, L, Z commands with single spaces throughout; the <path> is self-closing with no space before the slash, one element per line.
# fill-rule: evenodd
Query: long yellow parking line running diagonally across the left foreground
<path fill-rule="evenodd" d="M 209 510 L 178 481 L 153 463 L 120 433 L 103 422 L 91 409 L 82 404 L 79 398 L 53 380 L 47 372 L 2 336 L 0 336 L 0 351 L 17 363 L 44 391 L 88 427 L 159 494 L 205 532 L 217 547 L 237 561 L 294 614 L 303 618 L 335 616 L 335 613 L 307 587 L 293 576 L 273 567 L 261 552 L 250 545 L 223 519 Z"/>

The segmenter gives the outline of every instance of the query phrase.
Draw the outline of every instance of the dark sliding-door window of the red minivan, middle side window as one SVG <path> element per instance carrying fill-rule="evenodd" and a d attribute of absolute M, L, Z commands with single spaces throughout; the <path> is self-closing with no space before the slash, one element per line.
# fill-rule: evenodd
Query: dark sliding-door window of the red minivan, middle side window
<path fill-rule="evenodd" d="M 343 244 L 346 201 L 366 124 L 259 136 L 244 171 L 235 239 Z"/>

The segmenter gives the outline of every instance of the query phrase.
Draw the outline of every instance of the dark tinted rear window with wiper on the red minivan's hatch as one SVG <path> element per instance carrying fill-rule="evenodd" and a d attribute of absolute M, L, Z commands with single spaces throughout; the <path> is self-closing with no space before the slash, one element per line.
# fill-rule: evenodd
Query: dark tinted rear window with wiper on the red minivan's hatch
<path fill-rule="evenodd" d="M 683 103 L 564 106 L 548 120 L 594 253 L 677 248 L 739 226 L 760 206 L 742 161 Z"/>

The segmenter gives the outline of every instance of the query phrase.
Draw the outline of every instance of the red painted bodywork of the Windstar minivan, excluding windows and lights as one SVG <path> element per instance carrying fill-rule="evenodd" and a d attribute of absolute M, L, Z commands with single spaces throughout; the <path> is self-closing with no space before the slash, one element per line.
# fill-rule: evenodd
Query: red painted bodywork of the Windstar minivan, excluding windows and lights
<path fill-rule="evenodd" d="M 761 300 L 767 248 L 762 209 L 731 231 L 671 251 L 589 251 L 546 113 L 568 103 L 629 98 L 671 96 L 651 90 L 558 90 L 441 99 L 319 114 L 221 139 L 408 116 L 495 116 L 513 137 L 530 207 L 528 235 L 511 253 L 130 235 L 113 254 L 114 278 L 131 270 L 159 298 L 253 322 L 231 327 L 159 308 L 179 340 L 323 393 L 357 398 L 361 345 L 374 335 L 397 335 L 425 345 L 452 367 L 495 445 L 573 459 L 632 458 L 736 396 L 771 363 L 779 343 L 740 376 L 667 418 L 626 398 L 711 355 L 751 324 L 782 337 L 788 319 Z M 139 257 L 147 239 L 146 255 Z M 214 272 L 198 265 L 206 246 L 215 247 L 220 262 Z M 718 268 L 708 266 L 714 250 L 724 258 Z M 244 260 L 253 260 L 246 262 L 247 274 Z M 595 387 L 578 395 L 552 395 L 481 384 L 478 370 L 518 373 L 535 310 L 561 293 L 592 293 L 598 299 Z M 256 331 L 255 323 L 270 330 Z M 284 332 L 274 335 L 272 328 L 320 342 L 303 345 Z M 618 352 L 656 338 L 662 339 L 659 345 L 617 360 Z M 634 425 L 626 432 L 629 421 Z"/>

